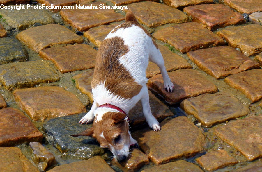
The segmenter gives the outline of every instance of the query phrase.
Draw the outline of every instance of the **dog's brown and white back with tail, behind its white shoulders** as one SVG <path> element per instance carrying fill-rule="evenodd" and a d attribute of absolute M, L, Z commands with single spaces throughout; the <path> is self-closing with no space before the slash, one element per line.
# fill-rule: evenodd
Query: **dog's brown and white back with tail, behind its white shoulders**
<path fill-rule="evenodd" d="M 147 83 L 146 68 L 152 46 L 155 45 L 151 37 L 134 14 L 128 12 L 125 22 L 114 28 L 100 45 L 92 89 L 103 87 L 125 99 L 139 94 Z"/>

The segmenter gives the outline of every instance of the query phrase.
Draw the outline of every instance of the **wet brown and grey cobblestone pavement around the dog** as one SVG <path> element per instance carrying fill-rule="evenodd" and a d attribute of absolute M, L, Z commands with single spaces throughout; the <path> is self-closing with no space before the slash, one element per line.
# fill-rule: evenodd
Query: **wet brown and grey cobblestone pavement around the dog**
<path fill-rule="evenodd" d="M 262 171 L 261 0 L 4 0 L 4 5 L 126 5 L 156 40 L 174 92 L 147 69 L 150 130 L 129 113 L 139 149 L 123 163 L 79 119 L 97 50 L 125 17 L 113 9 L 0 9 L 0 171 Z M 30 144 L 29 144 L 30 143 Z"/>

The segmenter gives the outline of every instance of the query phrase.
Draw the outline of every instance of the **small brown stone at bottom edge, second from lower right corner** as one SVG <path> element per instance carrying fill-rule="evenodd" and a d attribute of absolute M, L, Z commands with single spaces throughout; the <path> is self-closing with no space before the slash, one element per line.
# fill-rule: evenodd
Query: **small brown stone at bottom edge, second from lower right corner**
<path fill-rule="evenodd" d="M 208 152 L 197 158 L 196 161 L 207 171 L 215 171 L 238 163 L 238 160 L 230 156 L 225 150 Z"/>

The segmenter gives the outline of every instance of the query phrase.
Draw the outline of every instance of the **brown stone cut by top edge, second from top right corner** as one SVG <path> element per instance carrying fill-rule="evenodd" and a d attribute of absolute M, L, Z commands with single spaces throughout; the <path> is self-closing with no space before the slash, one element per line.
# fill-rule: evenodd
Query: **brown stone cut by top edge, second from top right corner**
<path fill-rule="evenodd" d="M 174 8 L 184 8 L 187 6 L 193 6 L 203 3 L 213 3 L 213 0 L 163 0 L 164 4 L 167 4 Z"/>

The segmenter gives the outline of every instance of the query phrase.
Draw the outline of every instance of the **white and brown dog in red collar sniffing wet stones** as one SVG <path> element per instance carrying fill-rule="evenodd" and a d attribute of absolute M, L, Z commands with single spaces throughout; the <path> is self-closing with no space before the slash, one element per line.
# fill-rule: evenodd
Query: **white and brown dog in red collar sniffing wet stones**
<path fill-rule="evenodd" d="M 174 86 L 157 44 L 129 11 L 125 22 L 107 35 L 98 50 L 92 80 L 94 103 L 79 121 L 81 124 L 94 121 L 93 127 L 72 136 L 92 136 L 102 148 L 109 148 L 119 162 L 124 161 L 129 147 L 137 144 L 130 135 L 127 114 L 139 100 L 149 127 L 160 131 L 149 105 L 146 86 L 148 60 L 157 64 L 164 87 L 172 92 Z"/>

